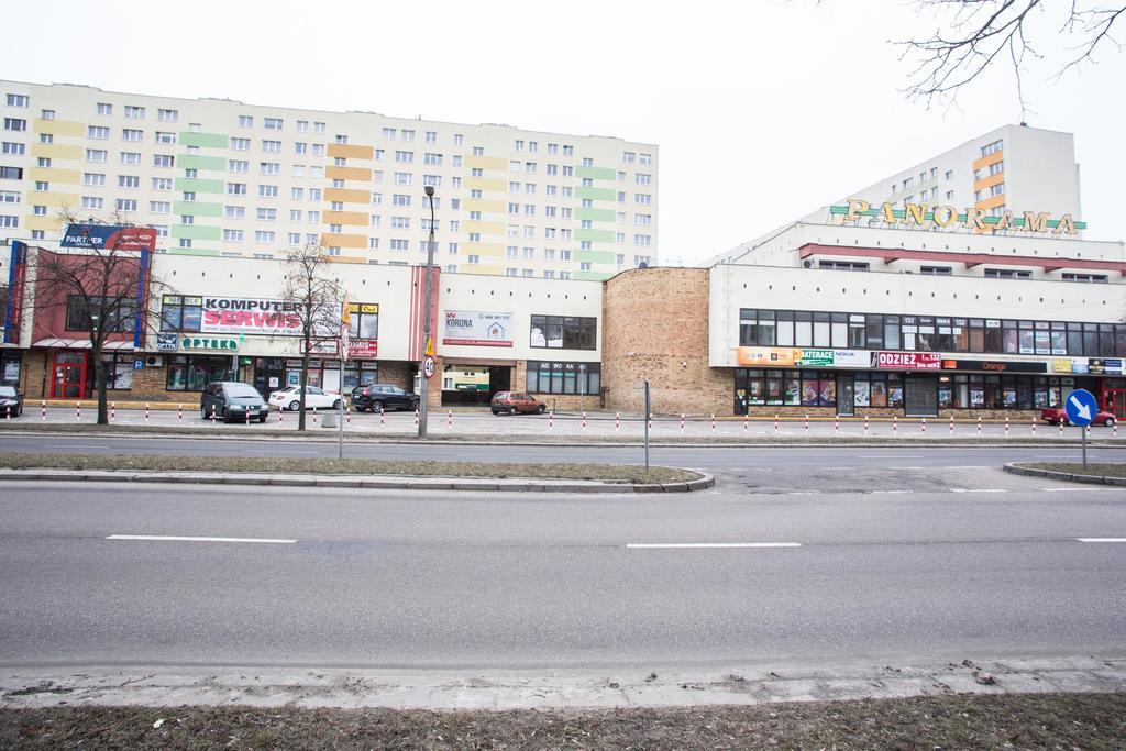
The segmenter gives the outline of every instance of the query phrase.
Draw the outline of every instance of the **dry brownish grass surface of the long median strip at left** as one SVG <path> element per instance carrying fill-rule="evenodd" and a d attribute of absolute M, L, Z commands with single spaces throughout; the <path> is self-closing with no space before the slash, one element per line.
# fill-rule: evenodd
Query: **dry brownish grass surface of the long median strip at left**
<path fill-rule="evenodd" d="M 315 457 L 159 456 L 120 454 L 0 453 L 0 467 L 12 470 L 119 470 L 128 472 L 253 472 L 265 474 L 405 475 L 410 477 L 530 477 L 536 480 L 599 480 L 623 483 L 667 483 L 701 475 L 673 467 L 613 464 L 503 464 L 420 462 L 402 459 L 330 459 Z"/>

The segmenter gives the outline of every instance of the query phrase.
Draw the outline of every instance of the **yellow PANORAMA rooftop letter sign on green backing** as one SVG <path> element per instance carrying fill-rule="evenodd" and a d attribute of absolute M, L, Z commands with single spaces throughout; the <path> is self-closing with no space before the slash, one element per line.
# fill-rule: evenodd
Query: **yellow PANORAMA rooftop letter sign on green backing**
<path fill-rule="evenodd" d="M 1087 222 L 1076 222 L 1071 214 L 1063 214 L 1058 218 L 1052 218 L 1047 212 L 1025 212 L 1022 216 L 1004 212 L 1000 216 L 992 216 L 986 209 L 973 206 L 958 209 L 954 206 L 903 204 L 903 208 L 895 208 L 895 204 L 891 202 L 884 203 L 879 208 L 873 208 L 867 200 L 860 198 L 849 198 L 844 206 L 830 206 L 829 213 L 833 216 L 840 216 L 841 222 L 846 224 L 875 218 L 885 224 L 902 224 L 908 227 L 917 226 L 927 230 L 962 227 L 985 233 L 1008 230 L 1071 235 L 1087 229 Z"/>

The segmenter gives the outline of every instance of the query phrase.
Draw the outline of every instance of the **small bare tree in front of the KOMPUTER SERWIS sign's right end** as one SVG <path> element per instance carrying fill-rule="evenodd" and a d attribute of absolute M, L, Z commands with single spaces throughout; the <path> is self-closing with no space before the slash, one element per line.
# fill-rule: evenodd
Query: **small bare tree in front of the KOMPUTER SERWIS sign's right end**
<path fill-rule="evenodd" d="M 340 303 L 343 292 L 337 279 L 328 276 L 330 262 L 321 245 L 305 245 L 289 251 L 285 263 L 285 286 L 282 299 L 286 315 L 300 324 L 301 411 L 297 429 L 305 429 L 305 390 L 309 385 L 309 360 L 319 345 L 338 341 Z M 343 399 L 343 394 L 340 396 Z"/>

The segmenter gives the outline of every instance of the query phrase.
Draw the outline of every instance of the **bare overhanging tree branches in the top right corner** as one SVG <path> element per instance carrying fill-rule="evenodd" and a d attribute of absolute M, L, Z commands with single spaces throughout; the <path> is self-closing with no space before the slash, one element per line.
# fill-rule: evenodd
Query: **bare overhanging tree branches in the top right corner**
<path fill-rule="evenodd" d="M 1098 0 L 917 0 L 920 12 L 931 12 L 941 26 L 927 38 L 899 42 L 903 57 L 913 60 L 908 96 L 931 105 L 956 99 L 958 91 L 990 68 L 1011 68 L 1021 119 L 1029 111 L 1024 75 L 1027 62 L 1042 61 L 1039 42 L 1054 35 L 1069 43 L 1069 57 L 1053 64 L 1055 75 L 1085 62 L 1096 62 L 1100 47 L 1120 51 L 1111 36 L 1126 5 L 1109 7 Z"/>

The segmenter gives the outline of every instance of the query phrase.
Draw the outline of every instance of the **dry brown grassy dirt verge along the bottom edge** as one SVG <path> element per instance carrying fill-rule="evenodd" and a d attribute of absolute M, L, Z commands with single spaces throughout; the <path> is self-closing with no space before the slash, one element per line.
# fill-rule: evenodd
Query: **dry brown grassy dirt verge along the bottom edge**
<path fill-rule="evenodd" d="M 673 709 L 0 710 L 6 749 L 1121 749 L 1126 695 L 935 696 Z"/>

